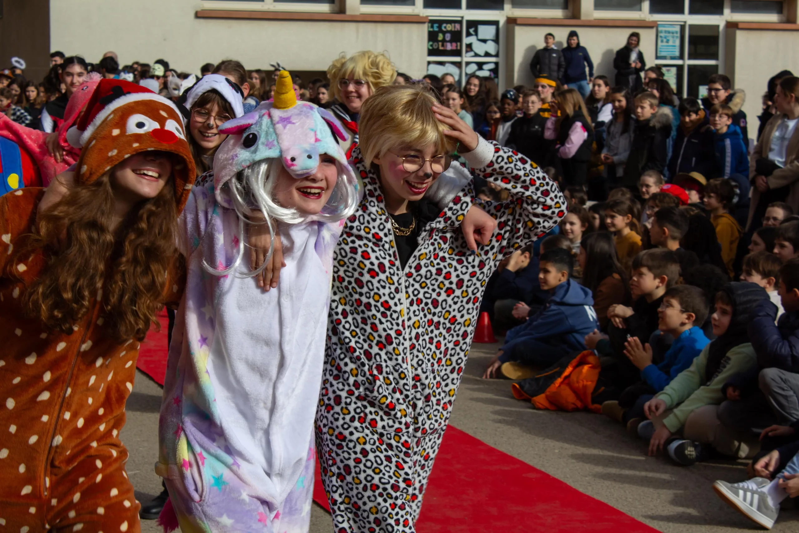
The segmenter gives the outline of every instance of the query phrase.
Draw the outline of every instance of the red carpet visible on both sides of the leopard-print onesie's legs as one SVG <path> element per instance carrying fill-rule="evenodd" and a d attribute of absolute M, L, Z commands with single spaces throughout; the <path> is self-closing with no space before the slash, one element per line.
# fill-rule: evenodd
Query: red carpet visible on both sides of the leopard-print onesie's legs
<path fill-rule="evenodd" d="M 318 467 L 313 499 L 330 510 Z M 416 531 L 658 530 L 450 426 L 433 465 Z"/>

